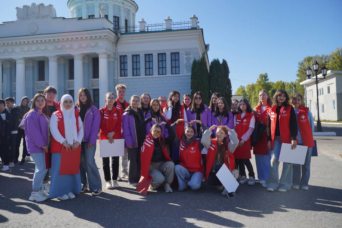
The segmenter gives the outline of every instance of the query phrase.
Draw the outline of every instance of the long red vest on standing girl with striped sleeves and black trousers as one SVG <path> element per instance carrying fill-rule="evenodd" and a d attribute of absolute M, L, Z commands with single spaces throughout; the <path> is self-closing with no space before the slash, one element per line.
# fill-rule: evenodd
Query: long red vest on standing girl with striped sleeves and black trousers
<path fill-rule="evenodd" d="M 236 115 L 236 134 L 239 141 L 241 140 L 242 135 L 244 135 L 249 128 L 249 123 L 251 122 L 251 118 L 253 117 L 253 113 L 246 112 L 244 118 L 241 118 L 241 113 Z M 249 159 L 251 157 L 251 138 L 244 143 L 244 146 L 237 147 L 234 151 L 235 159 Z"/>

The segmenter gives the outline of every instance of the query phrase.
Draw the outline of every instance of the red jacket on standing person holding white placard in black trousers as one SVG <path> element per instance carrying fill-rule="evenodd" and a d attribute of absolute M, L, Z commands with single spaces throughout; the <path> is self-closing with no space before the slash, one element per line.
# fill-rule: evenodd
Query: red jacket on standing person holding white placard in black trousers
<path fill-rule="evenodd" d="M 121 107 L 121 106 L 120 106 Z M 100 121 L 100 134 L 98 135 L 98 139 L 108 139 L 107 134 L 109 132 L 115 132 L 113 138 L 120 139 L 121 138 L 121 113 L 117 108 L 114 107 L 110 111 L 107 109 L 107 105 L 105 107 L 98 110 L 101 115 Z"/>

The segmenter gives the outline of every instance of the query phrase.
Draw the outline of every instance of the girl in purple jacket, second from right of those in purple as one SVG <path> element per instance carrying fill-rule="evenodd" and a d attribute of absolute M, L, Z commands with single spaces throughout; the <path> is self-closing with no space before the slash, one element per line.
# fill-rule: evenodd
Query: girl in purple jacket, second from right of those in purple
<path fill-rule="evenodd" d="M 202 92 L 196 92 L 194 94 L 194 99 L 192 105 L 186 111 L 187 121 L 192 123 L 193 120 L 200 120 L 207 128 L 211 127 L 211 111 L 210 109 L 203 104 L 203 94 Z M 195 127 L 195 137 L 201 138 L 202 131 L 200 124 L 194 124 Z"/>

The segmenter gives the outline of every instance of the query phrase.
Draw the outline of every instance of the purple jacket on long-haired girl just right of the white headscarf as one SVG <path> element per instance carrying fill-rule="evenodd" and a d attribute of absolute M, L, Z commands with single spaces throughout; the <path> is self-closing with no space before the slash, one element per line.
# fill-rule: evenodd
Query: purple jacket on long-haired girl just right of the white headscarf
<path fill-rule="evenodd" d="M 86 111 L 83 121 L 83 142 L 96 144 L 98 129 L 100 128 L 101 116 L 95 105 L 91 105 Z"/>

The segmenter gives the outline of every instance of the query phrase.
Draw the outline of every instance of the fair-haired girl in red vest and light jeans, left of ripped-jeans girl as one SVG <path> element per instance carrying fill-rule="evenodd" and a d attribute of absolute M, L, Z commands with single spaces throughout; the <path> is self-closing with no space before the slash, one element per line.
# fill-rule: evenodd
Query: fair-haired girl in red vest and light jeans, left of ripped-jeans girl
<path fill-rule="evenodd" d="M 271 108 L 272 100 L 266 90 L 259 91 L 259 102 L 254 107 L 255 121 L 267 126 L 267 112 Z M 265 183 L 268 177 L 269 161 L 271 160 L 271 150 L 267 148 L 267 131 L 262 134 L 262 138 L 253 146 L 255 155 L 255 164 L 257 165 L 258 183 L 266 187 Z"/>

